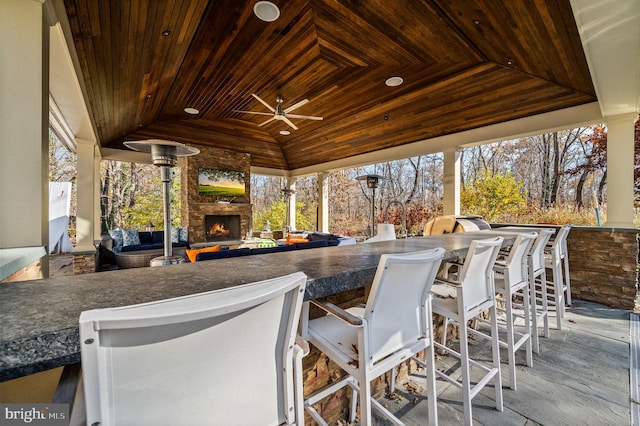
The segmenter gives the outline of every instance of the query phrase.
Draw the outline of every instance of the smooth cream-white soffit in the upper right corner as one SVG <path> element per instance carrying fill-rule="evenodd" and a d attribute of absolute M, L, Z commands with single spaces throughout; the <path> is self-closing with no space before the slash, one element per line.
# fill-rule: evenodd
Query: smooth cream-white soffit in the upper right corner
<path fill-rule="evenodd" d="M 571 0 L 602 115 L 640 111 L 640 0 Z"/>

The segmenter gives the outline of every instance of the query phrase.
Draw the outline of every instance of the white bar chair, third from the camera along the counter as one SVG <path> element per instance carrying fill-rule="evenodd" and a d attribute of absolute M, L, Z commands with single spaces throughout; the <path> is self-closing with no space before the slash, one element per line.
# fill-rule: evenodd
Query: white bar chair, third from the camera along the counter
<path fill-rule="evenodd" d="M 502 237 L 475 240 L 471 243 L 464 264 L 456 281 L 436 279 L 438 285 L 432 287 L 436 295 L 433 299 L 433 312 L 444 317 L 446 329 L 449 320 L 460 327 L 460 352 L 438 342 L 436 348 L 460 359 L 462 378 L 458 380 L 446 371 L 436 369 L 436 375 L 462 388 L 464 422 L 473 424 L 471 400 L 493 381 L 495 388 L 495 407 L 503 411 L 502 379 L 500 377 L 500 347 L 498 324 L 496 319 L 496 298 L 493 279 L 493 265 L 503 242 Z M 441 284 L 440 284 L 441 283 Z M 490 367 L 473 360 L 469 356 L 468 322 L 481 312 L 489 310 L 491 324 L 492 365 Z M 471 385 L 471 366 L 481 371 L 483 377 L 474 386 Z"/>

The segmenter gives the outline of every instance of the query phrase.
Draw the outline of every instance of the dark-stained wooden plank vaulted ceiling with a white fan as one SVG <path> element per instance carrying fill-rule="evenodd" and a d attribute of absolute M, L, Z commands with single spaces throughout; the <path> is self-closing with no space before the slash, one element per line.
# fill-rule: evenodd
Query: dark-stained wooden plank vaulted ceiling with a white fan
<path fill-rule="evenodd" d="M 64 0 L 101 145 L 289 170 L 596 100 L 569 0 L 273 2 L 268 23 L 248 0 Z M 324 120 L 259 126 L 234 112 L 269 113 L 253 93 Z"/>

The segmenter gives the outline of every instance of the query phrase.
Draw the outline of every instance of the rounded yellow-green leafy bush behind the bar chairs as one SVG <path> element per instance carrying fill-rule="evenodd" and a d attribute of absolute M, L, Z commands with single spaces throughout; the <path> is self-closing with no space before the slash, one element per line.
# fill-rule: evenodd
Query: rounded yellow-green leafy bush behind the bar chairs
<path fill-rule="evenodd" d="M 511 221 L 524 212 L 526 199 L 522 183 L 510 173 L 492 175 L 485 169 L 461 191 L 460 204 L 463 214 L 477 214 L 488 221 Z"/>

